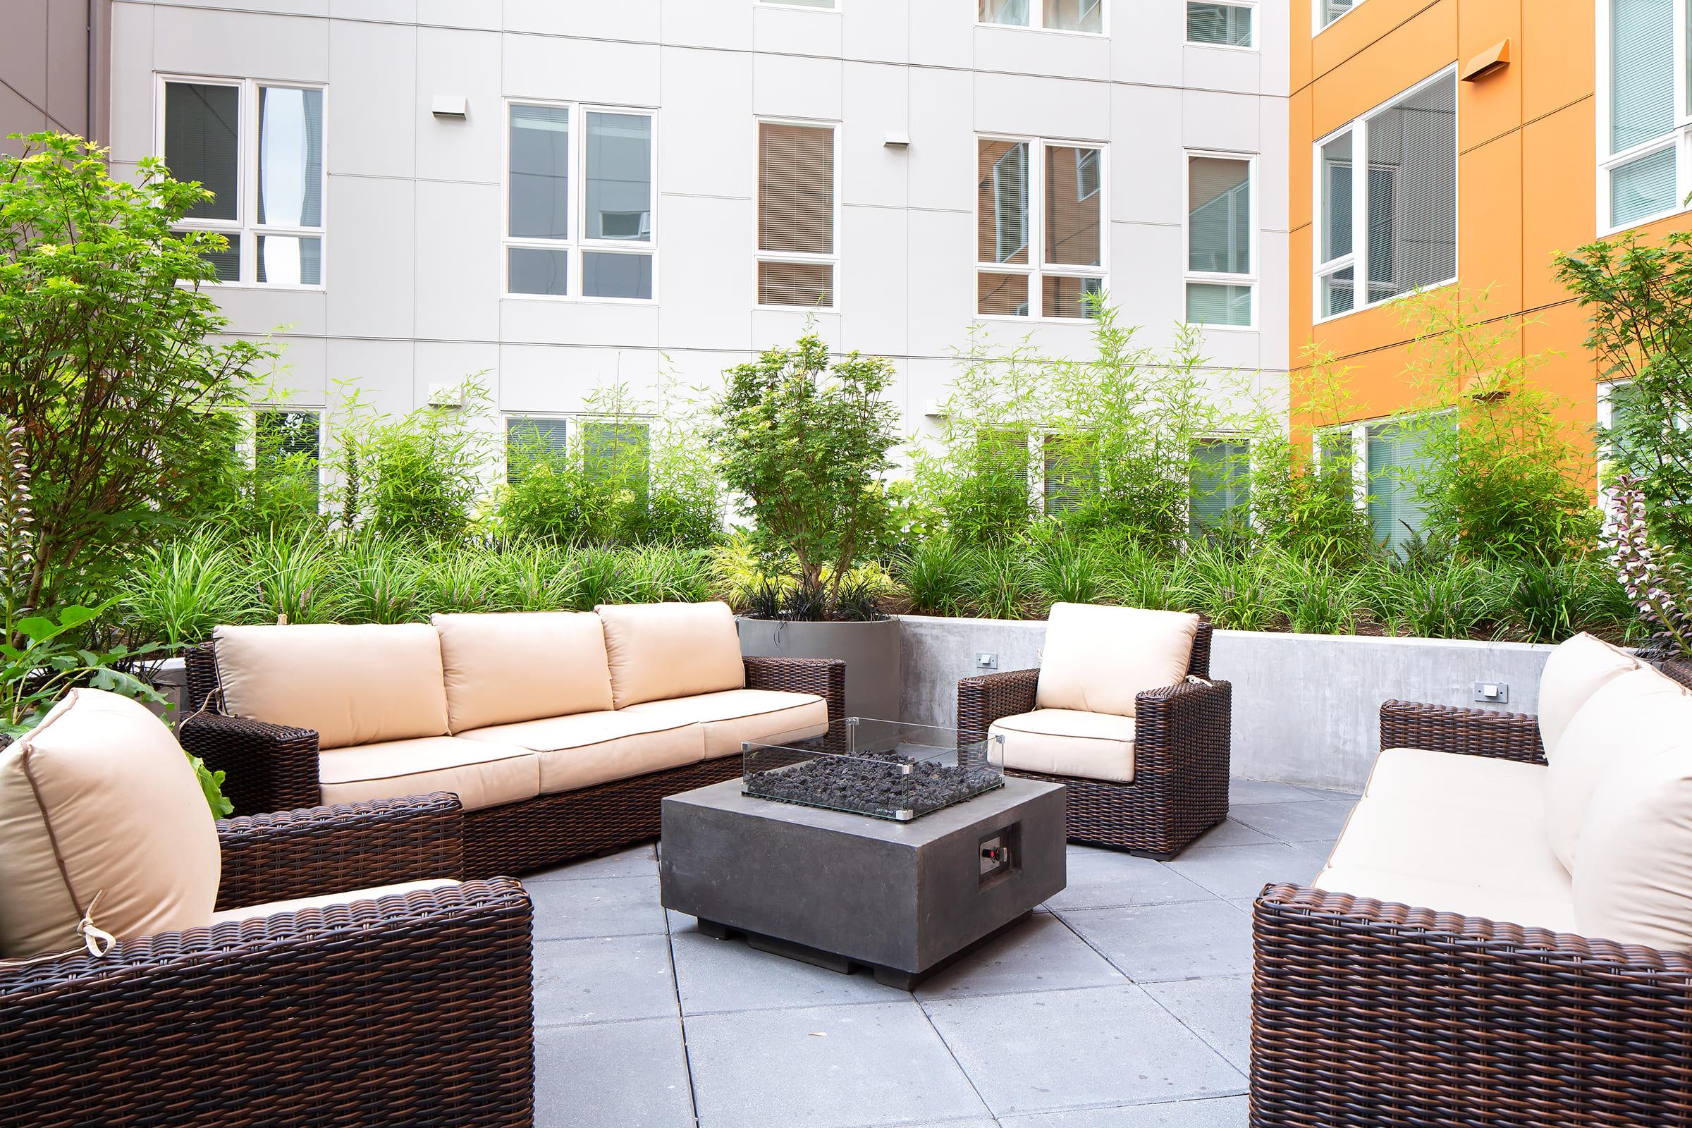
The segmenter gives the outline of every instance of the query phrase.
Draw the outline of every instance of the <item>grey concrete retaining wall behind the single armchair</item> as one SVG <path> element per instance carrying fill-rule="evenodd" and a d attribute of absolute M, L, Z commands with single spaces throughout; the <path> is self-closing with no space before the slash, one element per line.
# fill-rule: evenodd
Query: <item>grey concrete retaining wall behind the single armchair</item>
<path fill-rule="evenodd" d="M 953 724 L 975 654 L 1039 665 L 1044 622 L 905 616 L 904 719 Z M 1550 646 L 1217 631 L 1210 670 L 1233 683 L 1233 775 L 1360 790 L 1381 744 L 1381 702 L 1472 705 L 1474 682 L 1509 685 L 1496 709 L 1538 712 Z M 1486 705 L 1477 705 L 1486 709 Z"/>

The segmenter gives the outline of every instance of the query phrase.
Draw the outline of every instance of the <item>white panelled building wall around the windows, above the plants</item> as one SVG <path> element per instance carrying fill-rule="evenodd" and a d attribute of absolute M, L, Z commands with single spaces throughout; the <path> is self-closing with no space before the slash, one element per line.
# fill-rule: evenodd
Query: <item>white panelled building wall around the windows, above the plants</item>
<path fill-rule="evenodd" d="M 1107 2 L 1108 34 L 1090 36 L 978 25 L 968 0 L 118 0 L 113 156 L 122 169 L 156 151 L 159 74 L 325 86 L 325 286 L 220 293 L 237 331 L 286 326 L 283 382 L 299 402 L 359 381 L 409 409 L 486 370 L 501 411 L 565 413 L 601 384 L 651 387 L 665 357 L 684 384 L 711 384 L 809 325 L 887 355 L 904 426 L 932 433 L 976 321 L 978 135 L 1103 149 L 1100 274 L 1149 343 L 1184 316 L 1186 152 L 1237 152 L 1257 161 L 1257 323 L 1213 331 L 1211 352 L 1281 374 L 1289 0 L 1259 3 L 1247 51 L 1188 47 L 1174 0 Z M 437 98 L 465 115 L 435 117 Z M 650 301 L 584 299 L 580 279 L 562 296 L 506 294 L 513 100 L 574 107 L 570 193 L 584 113 L 655 112 L 650 215 L 626 228 L 650 235 Z M 760 118 L 839 123 L 834 309 L 756 304 Z M 1090 350 L 1085 320 L 990 326 L 1005 343 Z"/>

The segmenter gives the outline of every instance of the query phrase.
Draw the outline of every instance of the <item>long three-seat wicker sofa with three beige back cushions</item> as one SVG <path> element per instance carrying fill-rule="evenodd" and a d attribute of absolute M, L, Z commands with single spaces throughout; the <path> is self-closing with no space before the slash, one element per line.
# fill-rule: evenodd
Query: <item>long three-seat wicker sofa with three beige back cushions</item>
<path fill-rule="evenodd" d="M 739 775 L 741 741 L 834 734 L 844 709 L 843 663 L 741 658 L 724 604 L 218 627 L 188 685 L 183 747 L 237 813 L 452 791 L 477 878 L 653 839 L 665 795 Z"/>

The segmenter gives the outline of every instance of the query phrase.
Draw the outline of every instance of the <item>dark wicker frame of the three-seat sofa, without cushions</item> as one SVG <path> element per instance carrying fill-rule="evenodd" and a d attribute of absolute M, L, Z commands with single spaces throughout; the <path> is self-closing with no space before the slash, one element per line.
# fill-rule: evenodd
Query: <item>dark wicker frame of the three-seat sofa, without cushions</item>
<path fill-rule="evenodd" d="M 205 709 L 217 690 L 212 649 L 190 649 L 184 658 L 193 705 Z M 817 693 L 827 702 L 831 732 L 844 729 L 844 663 L 814 658 L 744 661 L 750 688 Z M 310 729 L 200 712 L 183 719 L 178 736 L 206 766 L 228 773 L 223 793 L 237 813 L 310 807 L 321 798 L 316 732 Z M 655 839 L 665 795 L 733 780 L 739 773 L 739 756 L 722 756 L 580 791 L 465 812 L 464 871 L 472 878 L 521 874 Z"/>

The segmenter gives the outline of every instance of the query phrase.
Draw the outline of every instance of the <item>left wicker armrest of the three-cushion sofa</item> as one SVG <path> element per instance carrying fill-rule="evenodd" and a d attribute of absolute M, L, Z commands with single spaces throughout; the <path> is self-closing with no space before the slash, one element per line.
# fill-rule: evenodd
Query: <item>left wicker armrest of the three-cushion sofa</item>
<path fill-rule="evenodd" d="M 176 739 L 191 756 L 223 771 L 223 797 L 237 815 L 294 810 L 323 802 L 318 742 L 311 729 L 201 712 L 183 717 Z"/>

